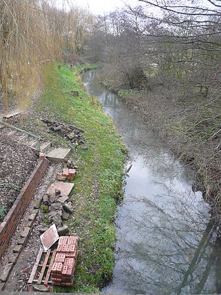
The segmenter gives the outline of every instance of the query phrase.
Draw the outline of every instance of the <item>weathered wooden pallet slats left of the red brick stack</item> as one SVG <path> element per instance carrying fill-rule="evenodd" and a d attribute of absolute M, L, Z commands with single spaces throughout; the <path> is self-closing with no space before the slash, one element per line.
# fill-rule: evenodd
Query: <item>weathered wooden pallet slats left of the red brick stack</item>
<path fill-rule="evenodd" d="M 44 258 L 44 263 L 41 263 L 42 256 L 46 254 Z M 55 250 L 48 250 L 44 251 L 43 248 L 39 250 L 39 254 L 37 254 L 37 258 L 35 260 L 35 265 L 32 268 L 32 272 L 30 274 L 30 278 L 28 280 L 28 285 L 32 285 L 33 283 L 37 283 L 38 285 L 48 285 L 51 284 L 52 281 L 50 280 L 50 274 L 52 265 L 55 261 L 56 249 Z M 50 263 L 48 264 L 48 260 Z M 41 269 L 41 270 L 39 270 Z"/>

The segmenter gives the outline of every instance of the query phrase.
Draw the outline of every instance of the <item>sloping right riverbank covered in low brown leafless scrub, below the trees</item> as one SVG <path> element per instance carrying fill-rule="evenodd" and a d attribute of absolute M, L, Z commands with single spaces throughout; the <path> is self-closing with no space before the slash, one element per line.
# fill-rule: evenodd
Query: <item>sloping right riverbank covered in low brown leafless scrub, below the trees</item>
<path fill-rule="evenodd" d="M 219 108 L 208 105 L 208 97 L 199 89 L 186 89 L 182 82 L 162 85 L 151 77 L 148 90 L 121 90 L 108 75 L 104 77 L 104 72 L 101 77 L 102 84 L 125 99 L 160 136 L 162 144 L 191 167 L 195 174 L 193 189 L 202 191 L 214 218 L 220 220 Z"/>

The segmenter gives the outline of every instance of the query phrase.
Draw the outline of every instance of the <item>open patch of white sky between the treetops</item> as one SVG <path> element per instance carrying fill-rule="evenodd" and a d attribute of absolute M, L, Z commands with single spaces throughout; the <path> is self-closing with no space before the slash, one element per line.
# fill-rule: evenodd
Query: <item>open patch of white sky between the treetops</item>
<path fill-rule="evenodd" d="M 77 6 L 89 8 L 90 12 L 100 15 L 103 12 L 111 12 L 115 8 L 120 8 L 126 4 L 137 6 L 140 4 L 138 0 L 69 0 Z"/>

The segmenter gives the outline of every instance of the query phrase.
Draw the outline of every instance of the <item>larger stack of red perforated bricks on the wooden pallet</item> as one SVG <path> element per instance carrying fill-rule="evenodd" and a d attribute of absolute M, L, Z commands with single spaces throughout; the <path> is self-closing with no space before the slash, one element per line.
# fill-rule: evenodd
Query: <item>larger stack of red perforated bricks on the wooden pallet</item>
<path fill-rule="evenodd" d="M 52 265 L 52 285 L 71 287 L 77 263 L 77 236 L 61 236 Z"/>

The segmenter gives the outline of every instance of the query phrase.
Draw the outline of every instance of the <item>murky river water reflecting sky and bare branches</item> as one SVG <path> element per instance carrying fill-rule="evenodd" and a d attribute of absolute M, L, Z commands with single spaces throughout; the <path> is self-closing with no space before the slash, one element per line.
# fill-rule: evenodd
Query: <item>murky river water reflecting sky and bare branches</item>
<path fill-rule="evenodd" d="M 96 70 L 84 73 L 83 82 L 113 119 L 133 160 L 117 211 L 113 280 L 103 292 L 220 293 L 217 227 L 202 193 L 193 193 L 189 171 L 122 99 L 99 84 Z"/>

